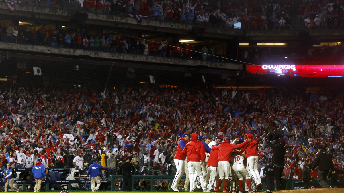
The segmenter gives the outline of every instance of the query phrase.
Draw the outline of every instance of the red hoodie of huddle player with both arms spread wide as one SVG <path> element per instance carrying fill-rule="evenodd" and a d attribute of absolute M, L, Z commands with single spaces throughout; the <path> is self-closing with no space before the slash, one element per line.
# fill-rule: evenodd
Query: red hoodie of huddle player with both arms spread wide
<path fill-rule="evenodd" d="M 247 143 L 248 143 L 248 141 L 245 141 L 244 143 L 241 143 L 239 145 L 234 145 L 234 144 L 231 144 L 227 139 L 225 139 L 225 140 L 223 140 L 222 144 L 220 144 L 218 146 L 213 145 L 212 151 L 213 150 L 219 150 L 218 161 L 228 161 L 229 162 L 230 156 L 232 156 L 233 149 L 243 147 Z M 188 157 L 188 159 L 189 159 L 189 157 Z"/>

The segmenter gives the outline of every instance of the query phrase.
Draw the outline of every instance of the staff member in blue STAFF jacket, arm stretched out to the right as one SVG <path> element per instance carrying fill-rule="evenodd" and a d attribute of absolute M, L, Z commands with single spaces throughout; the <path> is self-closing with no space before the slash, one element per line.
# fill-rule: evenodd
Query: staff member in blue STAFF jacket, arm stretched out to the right
<path fill-rule="evenodd" d="M 91 180 L 91 189 L 92 192 L 98 191 L 100 187 L 100 171 L 101 170 L 106 170 L 108 167 L 103 167 L 101 166 L 98 162 L 99 160 L 95 159 L 95 162 L 93 162 L 87 171 L 87 178 Z M 97 187 L 95 187 L 95 184 L 97 183 Z"/>

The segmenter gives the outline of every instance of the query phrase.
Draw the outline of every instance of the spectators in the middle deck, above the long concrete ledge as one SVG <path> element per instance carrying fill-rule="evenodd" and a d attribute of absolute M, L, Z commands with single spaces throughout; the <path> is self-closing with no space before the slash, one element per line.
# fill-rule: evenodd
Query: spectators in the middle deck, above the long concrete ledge
<path fill-rule="evenodd" d="M 194 45 L 187 45 L 185 42 L 172 44 L 166 38 L 161 38 L 160 42 L 154 42 L 147 40 L 147 37 L 143 38 L 138 35 L 127 36 L 111 32 L 99 34 L 97 31 L 85 31 L 84 29 L 76 31 L 67 30 L 59 25 L 56 25 L 56 27 L 42 25 L 38 28 L 32 28 L 28 25 L 15 26 L 11 24 L 7 27 L 2 22 L 0 34 L 2 34 L 0 37 L 3 42 L 49 45 L 52 47 L 89 49 L 103 52 L 203 60 L 210 60 L 211 55 L 215 55 L 211 49 L 207 48 L 207 45 L 197 48 L 198 52 L 209 54 L 208 56 L 202 56 L 204 54 L 194 52 L 196 49 Z"/>

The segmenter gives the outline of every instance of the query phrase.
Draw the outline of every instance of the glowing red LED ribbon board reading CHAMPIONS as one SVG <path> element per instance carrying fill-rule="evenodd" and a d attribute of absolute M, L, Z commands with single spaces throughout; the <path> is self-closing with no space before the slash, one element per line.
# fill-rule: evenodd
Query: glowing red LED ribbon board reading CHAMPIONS
<path fill-rule="evenodd" d="M 247 71 L 260 75 L 343 77 L 344 65 L 247 65 Z"/>

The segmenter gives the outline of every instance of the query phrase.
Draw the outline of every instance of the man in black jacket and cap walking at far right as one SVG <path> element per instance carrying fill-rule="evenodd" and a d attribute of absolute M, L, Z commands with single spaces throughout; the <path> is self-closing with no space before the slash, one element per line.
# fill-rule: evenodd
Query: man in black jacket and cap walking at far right
<path fill-rule="evenodd" d="M 326 183 L 325 179 L 330 169 L 334 171 L 334 166 L 331 156 L 325 153 L 325 148 L 323 146 L 318 147 L 318 154 L 315 155 L 312 170 L 314 170 L 317 166 L 319 166 L 317 180 L 321 185 L 321 188 L 330 188 L 330 185 Z"/>

